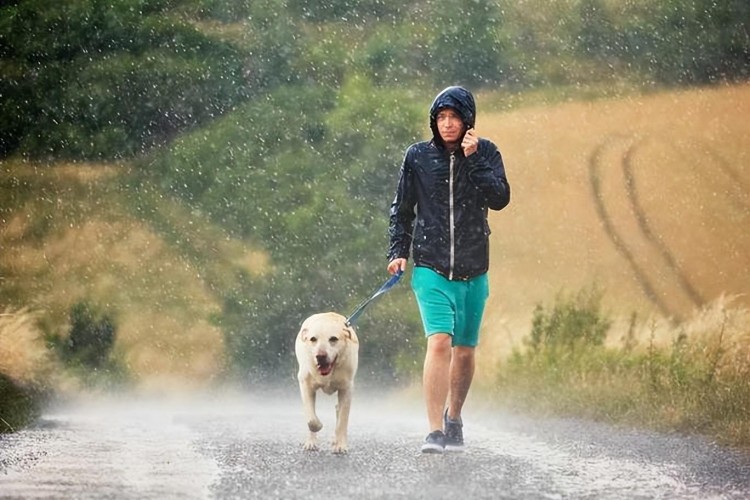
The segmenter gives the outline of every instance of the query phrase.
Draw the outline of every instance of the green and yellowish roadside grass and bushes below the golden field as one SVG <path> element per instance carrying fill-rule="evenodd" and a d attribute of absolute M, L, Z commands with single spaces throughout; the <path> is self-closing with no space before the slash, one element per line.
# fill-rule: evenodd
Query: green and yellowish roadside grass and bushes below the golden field
<path fill-rule="evenodd" d="M 726 317 L 705 337 L 690 338 L 683 331 L 665 347 L 654 345 L 653 338 L 645 348 L 638 346 L 630 333 L 621 347 L 605 347 L 591 325 L 608 320 L 585 303 L 573 307 L 573 302 L 558 301 L 555 310 L 561 314 L 535 314 L 530 336 L 536 340 L 529 344 L 539 347 L 516 350 L 503 364 L 497 380 L 500 400 L 524 410 L 699 432 L 735 445 L 750 444 L 748 367 L 726 359 L 731 352 L 724 345 Z M 578 319 L 565 319 L 571 316 Z M 629 330 L 635 328 L 633 321 Z M 580 331 L 588 329 L 593 335 L 553 327 L 562 324 L 578 324 Z"/>

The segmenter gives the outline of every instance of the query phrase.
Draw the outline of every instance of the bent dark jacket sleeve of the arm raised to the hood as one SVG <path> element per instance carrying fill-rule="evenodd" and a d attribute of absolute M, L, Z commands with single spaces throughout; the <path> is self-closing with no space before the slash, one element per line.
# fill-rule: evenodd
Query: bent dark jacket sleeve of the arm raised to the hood
<path fill-rule="evenodd" d="M 467 158 L 469 180 L 484 195 L 487 207 L 501 210 L 510 203 L 503 158 L 492 142 L 481 139 L 479 145 L 479 150 Z"/>

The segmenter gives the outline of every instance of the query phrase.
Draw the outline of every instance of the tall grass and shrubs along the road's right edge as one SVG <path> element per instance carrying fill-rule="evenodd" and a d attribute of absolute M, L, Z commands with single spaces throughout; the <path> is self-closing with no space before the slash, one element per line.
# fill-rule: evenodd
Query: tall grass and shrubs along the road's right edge
<path fill-rule="evenodd" d="M 502 363 L 497 401 L 750 450 L 750 311 L 722 297 L 679 324 L 634 314 L 613 330 L 600 299 L 583 290 L 539 305 Z"/>

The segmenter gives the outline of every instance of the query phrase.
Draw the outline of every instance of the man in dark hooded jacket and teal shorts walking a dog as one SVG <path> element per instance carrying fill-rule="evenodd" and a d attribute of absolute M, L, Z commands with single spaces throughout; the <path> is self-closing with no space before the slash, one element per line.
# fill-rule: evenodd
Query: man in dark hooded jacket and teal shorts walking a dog
<path fill-rule="evenodd" d="M 432 140 L 407 149 L 390 210 L 388 272 L 404 271 L 411 250 L 412 289 L 427 337 L 425 453 L 463 449 L 461 410 L 489 294 L 487 211 L 510 202 L 500 152 L 477 136 L 475 118 L 465 88 L 435 97 Z"/>

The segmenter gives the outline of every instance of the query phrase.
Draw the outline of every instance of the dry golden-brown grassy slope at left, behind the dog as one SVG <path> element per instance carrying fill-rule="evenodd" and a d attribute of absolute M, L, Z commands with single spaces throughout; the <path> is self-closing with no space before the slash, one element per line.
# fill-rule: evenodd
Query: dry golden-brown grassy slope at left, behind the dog
<path fill-rule="evenodd" d="M 45 333 L 65 336 L 73 304 L 89 301 L 114 314 L 115 355 L 144 387 L 208 382 L 224 358 L 214 290 L 264 257 L 200 214 L 129 191 L 123 174 L 2 164 L 3 306 L 28 307 Z"/>

